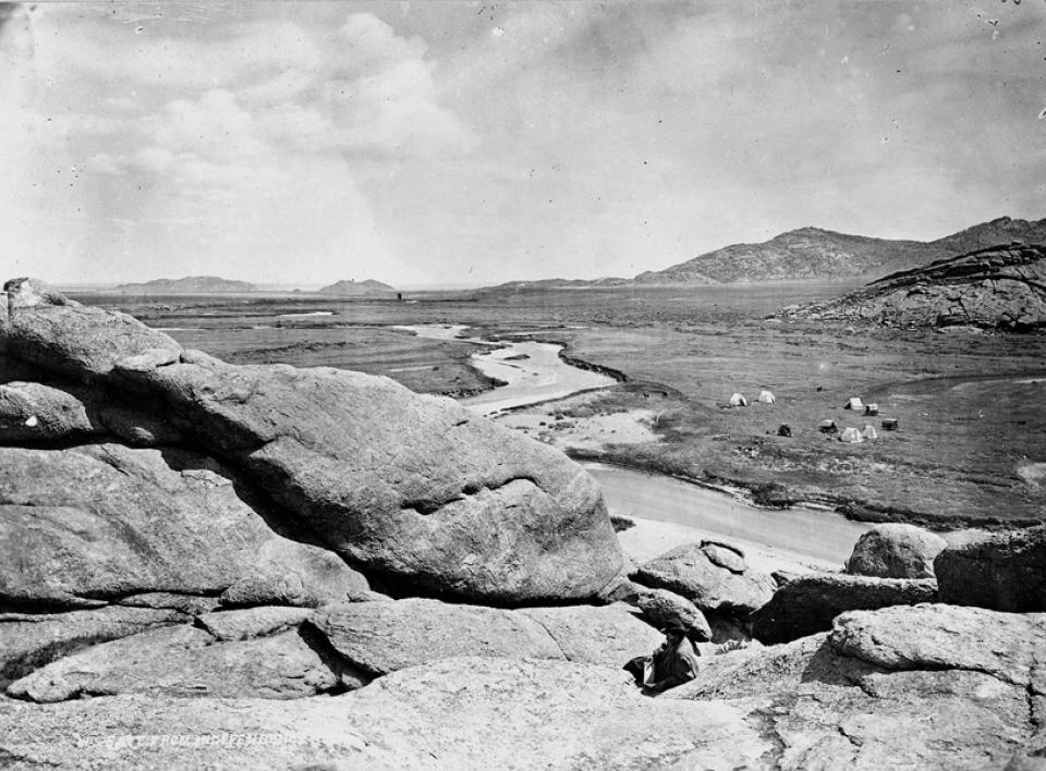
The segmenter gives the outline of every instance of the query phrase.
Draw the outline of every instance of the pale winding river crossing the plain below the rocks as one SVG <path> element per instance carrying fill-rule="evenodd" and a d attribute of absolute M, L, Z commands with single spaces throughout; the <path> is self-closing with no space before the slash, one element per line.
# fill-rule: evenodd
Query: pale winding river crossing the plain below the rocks
<path fill-rule="evenodd" d="M 473 362 L 485 375 L 509 384 L 461 400 L 485 415 L 562 399 L 576 391 L 605 388 L 615 382 L 604 375 L 564 364 L 559 358 L 559 345 L 532 341 L 489 343 L 460 338 L 465 328 L 458 326 L 400 329 L 408 329 L 418 336 L 497 346 L 473 355 Z M 861 534 L 872 527 L 823 510 L 757 509 L 729 493 L 671 477 L 599 463 L 583 465 L 599 482 L 607 506 L 613 514 L 694 527 L 817 561 L 841 564 L 850 556 Z"/>

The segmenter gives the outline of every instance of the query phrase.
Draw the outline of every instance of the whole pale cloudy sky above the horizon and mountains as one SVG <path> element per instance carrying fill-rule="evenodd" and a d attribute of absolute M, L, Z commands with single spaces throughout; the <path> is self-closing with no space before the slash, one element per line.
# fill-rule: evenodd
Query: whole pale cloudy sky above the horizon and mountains
<path fill-rule="evenodd" d="M 1046 217 L 1046 0 L 0 4 L 0 280 L 632 277 Z"/>

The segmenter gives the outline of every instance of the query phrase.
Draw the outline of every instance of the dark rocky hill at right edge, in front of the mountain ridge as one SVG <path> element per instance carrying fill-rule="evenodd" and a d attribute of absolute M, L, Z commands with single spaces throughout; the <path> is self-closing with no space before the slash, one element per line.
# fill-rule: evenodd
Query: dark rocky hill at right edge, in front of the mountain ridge
<path fill-rule="evenodd" d="M 1046 246 L 1011 244 L 907 270 L 835 299 L 786 308 L 786 318 L 892 327 L 1046 328 Z"/>

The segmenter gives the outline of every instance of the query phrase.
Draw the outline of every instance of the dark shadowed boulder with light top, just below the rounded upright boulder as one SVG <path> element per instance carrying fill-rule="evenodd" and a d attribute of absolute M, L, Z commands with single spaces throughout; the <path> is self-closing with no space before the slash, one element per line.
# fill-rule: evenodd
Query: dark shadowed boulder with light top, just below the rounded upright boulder
<path fill-rule="evenodd" d="M 827 632 L 831 621 L 849 610 L 914 605 L 937 600 L 932 579 L 871 578 L 839 573 L 813 573 L 788 582 L 753 613 L 752 636 L 766 645 L 789 642 Z"/>

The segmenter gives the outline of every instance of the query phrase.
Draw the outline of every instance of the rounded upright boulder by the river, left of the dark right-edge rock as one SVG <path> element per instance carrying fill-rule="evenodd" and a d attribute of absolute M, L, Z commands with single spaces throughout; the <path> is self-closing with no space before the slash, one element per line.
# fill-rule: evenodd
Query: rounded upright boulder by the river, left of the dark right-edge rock
<path fill-rule="evenodd" d="M 877 578 L 933 578 L 934 559 L 948 546 L 935 533 L 914 525 L 876 525 L 861 535 L 847 573 Z"/>

